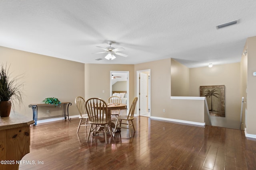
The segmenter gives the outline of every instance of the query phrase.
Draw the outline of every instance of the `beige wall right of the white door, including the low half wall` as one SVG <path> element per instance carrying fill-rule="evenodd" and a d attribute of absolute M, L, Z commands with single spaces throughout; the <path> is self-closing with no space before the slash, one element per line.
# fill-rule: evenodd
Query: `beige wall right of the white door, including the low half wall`
<path fill-rule="evenodd" d="M 151 116 L 166 119 L 204 122 L 203 100 L 171 100 L 171 59 L 135 64 L 134 73 L 150 69 Z M 137 80 L 137 79 L 136 79 Z M 136 89 L 135 82 L 135 92 Z M 184 107 L 186 106 L 186 107 Z M 202 107 L 201 107 L 202 106 Z M 165 109 L 165 112 L 163 112 Z"/>

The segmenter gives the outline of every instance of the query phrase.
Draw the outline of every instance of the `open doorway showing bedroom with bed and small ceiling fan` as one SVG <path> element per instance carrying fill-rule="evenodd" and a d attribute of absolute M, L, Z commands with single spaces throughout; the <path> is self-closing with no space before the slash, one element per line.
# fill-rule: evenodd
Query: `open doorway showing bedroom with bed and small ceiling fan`
<path fill-rule="evenodd" d="M 110 96 L 122 93 L 122 103 L 127 105 L 126 110 L 120 110 L 121 115 L 129 113 L 129 71 L 110 71 Z"/>

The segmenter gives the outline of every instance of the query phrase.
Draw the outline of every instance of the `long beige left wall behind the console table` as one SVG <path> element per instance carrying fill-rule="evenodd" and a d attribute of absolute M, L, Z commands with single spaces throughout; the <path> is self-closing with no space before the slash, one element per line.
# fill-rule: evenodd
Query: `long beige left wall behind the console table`
<path fill-rule="evenodd" d="M 78 115 L 74 104 L 76 96 L 84 96 L 84 64 L 0 47 L 1 63 L 11 64 L 13 75 L 24 74 L 24 103 L 15 106 L 15 113 L 32 118 L 29 104 L 41 103 L 48 97 L 62 102 L 72 102 L 70 115 Z M 62 108 L 49 107 L 50 115 L 62 112 Z M 13 113 L 11 113 L 13 114 Z M 38 117 L 46 114 L 45 108 L 38 108 Z M 47 115 L 46 115 L 47 116 Z"/>

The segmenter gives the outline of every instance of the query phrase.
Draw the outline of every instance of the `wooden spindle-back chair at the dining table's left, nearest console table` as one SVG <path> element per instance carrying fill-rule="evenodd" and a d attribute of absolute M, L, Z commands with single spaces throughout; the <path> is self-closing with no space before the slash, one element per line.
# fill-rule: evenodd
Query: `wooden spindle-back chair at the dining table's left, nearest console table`
<path fill-rule="evenodd" d="M 90 126 L 90 125 L 87 123 L 89 117 L 86 114 L 84 98 L 82 98 L 81 96 L 76 97 L 75 104 L 80 113 L 80 116 L 79 116 L 80 122 L 79 122 L 78 129 L 76 132 L 76 133 L 78 133 L 80 126 L 85 126 L 85 128 L 86 128 L 87 126 Z M 85 119 L 85 121 L 82 121 L 83 119 Z"/>

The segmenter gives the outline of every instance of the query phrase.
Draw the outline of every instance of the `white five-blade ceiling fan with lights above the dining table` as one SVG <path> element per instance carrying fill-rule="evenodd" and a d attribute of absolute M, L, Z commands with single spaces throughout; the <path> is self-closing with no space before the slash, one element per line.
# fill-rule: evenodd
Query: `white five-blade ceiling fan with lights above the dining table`
<path fill-rule="evenodd" d="M 123 53 L 119 53 L 118 51 L 122 51 L 122 50 L 125 50 L 123 47 L 120 47 L 120 48 L 117 48 L 115 49 L 114 47 L 111 47 L 112 45 L 112 41 L 108 41 L 108 44 L 109 44 L 109 47 L 106 47 L 106 48 L 103 48 L 103 47 L 99 47 L 99 46 L 96 46 L 96 47 L 99 47 L 101 49 L 104 49 L 105 51 L 104 52 L 99 52 L 99 53 L 96 53 L 96 54 L 100 54 L 100 53 L 108 53 L 105 57 L 105 59 L 107 60 L 114 60 L 116 58 L 115 55 L 120 55 L 120 56 L 123 56 L 123 57 L 127 57 L 128 55 L 126 54 L 123 54 Z"/>

